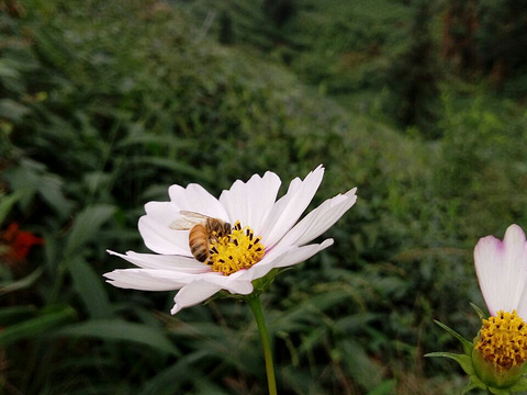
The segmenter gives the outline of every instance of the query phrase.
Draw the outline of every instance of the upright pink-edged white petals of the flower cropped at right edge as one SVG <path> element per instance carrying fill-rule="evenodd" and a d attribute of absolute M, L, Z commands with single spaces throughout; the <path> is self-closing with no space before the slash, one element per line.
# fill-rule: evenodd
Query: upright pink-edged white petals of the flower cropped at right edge
<path fill-rule="evenodd" d="M 489 312 L 513 312 L 527 318 L 527 242 L 524 230 L 511 225 L 503 241 L 486 236 L 474 248 L 474 263 Z"/>

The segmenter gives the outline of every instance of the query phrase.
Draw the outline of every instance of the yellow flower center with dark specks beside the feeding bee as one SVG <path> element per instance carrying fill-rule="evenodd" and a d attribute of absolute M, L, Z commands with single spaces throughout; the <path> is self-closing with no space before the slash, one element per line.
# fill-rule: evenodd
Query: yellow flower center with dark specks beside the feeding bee
<path fill-rule="evenodd" d="M 212 238 L 205 263 L 225 275 L 249 269 L 266 253 L 260 240 L 261 237 L 255 237 L 250 227 L 242 227 L 237 221 L 229 235 Z"/>

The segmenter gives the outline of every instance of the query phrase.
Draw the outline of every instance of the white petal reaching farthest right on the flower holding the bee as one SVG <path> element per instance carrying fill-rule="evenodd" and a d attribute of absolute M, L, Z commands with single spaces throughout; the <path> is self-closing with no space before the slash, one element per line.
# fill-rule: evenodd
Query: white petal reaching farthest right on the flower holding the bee
<path fill-rule="evenodd" d="M 299 222 L 277 245 L 302 246 L 329 229 L 355 204 L 357 188 L 326 200 Z"/>

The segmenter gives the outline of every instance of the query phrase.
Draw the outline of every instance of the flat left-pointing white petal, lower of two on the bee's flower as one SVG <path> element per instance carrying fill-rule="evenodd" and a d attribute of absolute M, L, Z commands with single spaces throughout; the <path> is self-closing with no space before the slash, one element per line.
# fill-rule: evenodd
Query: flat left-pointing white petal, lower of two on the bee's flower
<path fill-rule="evenodd" d="M 104 276 L 113 286 L 139 291 L 179 290 L 195 279 L 193 274 L 155 269 L 120 269 Z"/>

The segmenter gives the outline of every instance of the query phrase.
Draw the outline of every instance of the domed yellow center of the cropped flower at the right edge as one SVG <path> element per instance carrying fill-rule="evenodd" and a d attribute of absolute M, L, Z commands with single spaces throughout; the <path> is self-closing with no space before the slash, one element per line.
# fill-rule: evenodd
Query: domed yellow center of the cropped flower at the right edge
<path fill-rule="evenodd" d="M 475 349 L 498 370 L 522 364 L 527 359 L 527 324 L 516 311 L 500 311 L 495 317 L 483 319 Z"/>

